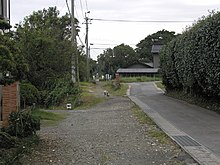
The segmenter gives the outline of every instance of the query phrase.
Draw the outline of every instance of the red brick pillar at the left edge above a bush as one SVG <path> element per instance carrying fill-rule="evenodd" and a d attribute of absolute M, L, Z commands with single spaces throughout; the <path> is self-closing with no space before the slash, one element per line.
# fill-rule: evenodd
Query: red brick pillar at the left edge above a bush
<path fill-rule="evenodd" d="M 8 126 L 9 114 L 18 111 L 20 108 L 20 89 L 19 82 L 5 85 L 2 88 L 2 120 L 3 127 Z"/>

